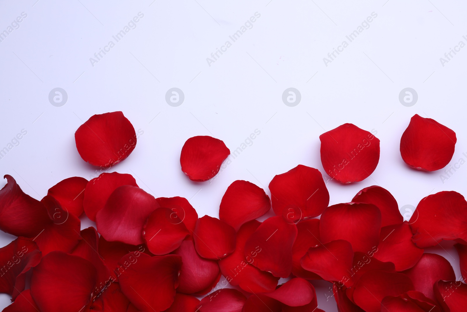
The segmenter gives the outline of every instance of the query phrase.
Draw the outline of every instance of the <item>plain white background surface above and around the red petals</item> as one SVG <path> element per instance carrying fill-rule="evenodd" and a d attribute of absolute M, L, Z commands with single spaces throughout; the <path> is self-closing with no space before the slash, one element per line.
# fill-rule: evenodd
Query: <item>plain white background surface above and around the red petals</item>
<path fill-rule="evenodd" d="M 94 114 L 121 110 L 144 134 L 134 152 L 110 171 L 133 174 L 154 196 L 184 196 L 201 217 L 218 217 L 219 203 L 234 180 L 266 189 L 275 174 L 298 164 L 324 170 L 319 135 L 342 123 L 377 131 L 381 158 L 375 172 L 352 185 L 329 181 L 331 203 L 348 202 L 364 187 L 388 189 L 400 207 L 416 206 L 441 190 L 466 192 L 467 165 L 448 180 L 441 171 L 409 169 L 399 140 L 410 117 L 431 117 L 458 138 L 451 164 L 467 160 L 465 68 L 467 47 L 442 66 L 439 58 L 467 35 L 466 3 L 440 0 L 378 1 L 133 1 L 30 0 L 0 2 L 0 31 L 28 16 L 0 42 L 0 149 L 22 129 L 28 131 L 0 160 L 29 195 L 70 176 L 91 179 L 94 167 L 78 155 L 74 132 Z M 269 3 L 268 3 L 269 2 Z M 134 16 L 144 17 L 98 63 L 89 58 L 104 48 Z M 255 12 L 261 17 L 240 39 Z M 377 17 L 353 42 L 349 35 L 372 12 Z M 229 40 L 232 46 L 209 66 L 206 58 Z M 346 40 L 332 63 L 323 58 Z M 50 90 L 68 94 L 52 106 Z M 172 87 L 183 90 L 179 107 L 165 102 Z M 295 107 L 282 102 L 286 88 L 302 96 Z M 418 102 L 403 106 L 398 95 L 414 88 Z M 157 117 L 156 117 L 157 116 Z M 155 118 L 156 117 L 156 118 Z M 239 157 L 210 182 L 195 183 L 180 170 L 180 150 L 196 135 L 222 139 L 233 151 L 258 129 Z M 448 166 L 449 167 L 449 166 Z M 6 181 L 1 182 L 3 186 Z M 404 211 L 405 212 L 405 211 Z M 83 227 L 89 226 L 89 221 Z M 14 237 L 2 234 L 1 244 Z M 451 242 L 429 249 L 453 263 Z M 337 311 L 329 285 L 317 286 L 319 308 Z M 0 305 L 9 303 L 1 295 Z"/>

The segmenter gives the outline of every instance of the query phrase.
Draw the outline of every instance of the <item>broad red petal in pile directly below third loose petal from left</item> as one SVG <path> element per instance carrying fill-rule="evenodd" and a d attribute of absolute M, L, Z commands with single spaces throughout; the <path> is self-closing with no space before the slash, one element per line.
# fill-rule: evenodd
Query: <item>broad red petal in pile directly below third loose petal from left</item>
<path fill-rule="evenodd" d="M 369 203 L 338 203 L 321 215 L 319 234 L 321 243 L 345 239 L 354 251 L 366 253 L 378 246 L 381 212 Z"/>

